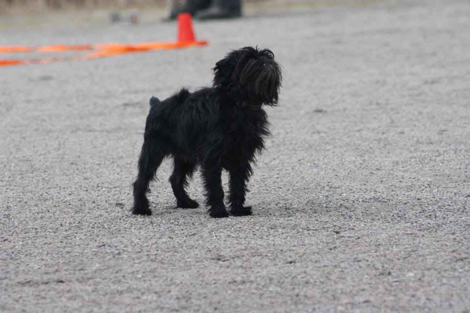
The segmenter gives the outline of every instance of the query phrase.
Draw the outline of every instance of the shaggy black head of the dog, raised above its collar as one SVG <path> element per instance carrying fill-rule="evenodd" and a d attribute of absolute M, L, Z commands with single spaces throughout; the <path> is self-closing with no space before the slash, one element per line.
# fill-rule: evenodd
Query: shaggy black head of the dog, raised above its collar
<path fill-rule="evenodd" d="M 213 69 L 215 88 L 226 89 L 239 101 L 277 104 L 282 74 L 271 50 L 258 47 L 233 50 Z"/>

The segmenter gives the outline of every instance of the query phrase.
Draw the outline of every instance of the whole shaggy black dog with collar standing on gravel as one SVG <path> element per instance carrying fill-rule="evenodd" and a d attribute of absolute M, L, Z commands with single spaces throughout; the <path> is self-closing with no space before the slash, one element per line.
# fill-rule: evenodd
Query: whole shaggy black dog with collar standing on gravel
<path fill-rule="evenodd" d="M 213 86 L 190 93 L 181 89 L 160 102 L 150 99 L 144 141 L 139 158 L 139 175 L 134 182 L 133 214 L 150 215 L 146 193 L 157 168 L 173 156 L 169 181 L 178 207 L 196 208 L 185 187 L 196 166 L 202 169 L 211 217 L 227 217 L 222 169 L 230 174 L 230 213 L 251 215 L 243 206 L 246 183 L 253 170 L 255 153 L 264 148 L 269 135 L 266 112 L 275 106 L 281 88 L 281 67 L 269 49 L 244 47 L 216 63 Z"/>

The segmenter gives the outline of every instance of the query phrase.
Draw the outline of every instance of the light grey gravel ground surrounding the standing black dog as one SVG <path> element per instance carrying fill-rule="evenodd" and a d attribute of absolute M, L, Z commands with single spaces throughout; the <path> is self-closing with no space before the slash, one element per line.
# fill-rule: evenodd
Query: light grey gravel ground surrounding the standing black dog
<path fill-rule="evenodd" d="M 194 27 L 210 45 L 0 68 L 0 311 L 468 313 L 470 3 L 293 6 Z M 13 27 L 0 45 L 175 35 L 158 21 Z M 209 85 L 245 45 L 284 67 L 254 215 L 175 209 L 169 161 L 154 215 L 131 215 L 150 96 Z M 198 175 L 189 194 L 204 201 Z"/>

